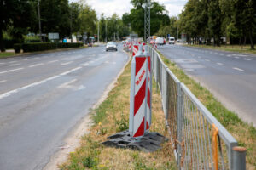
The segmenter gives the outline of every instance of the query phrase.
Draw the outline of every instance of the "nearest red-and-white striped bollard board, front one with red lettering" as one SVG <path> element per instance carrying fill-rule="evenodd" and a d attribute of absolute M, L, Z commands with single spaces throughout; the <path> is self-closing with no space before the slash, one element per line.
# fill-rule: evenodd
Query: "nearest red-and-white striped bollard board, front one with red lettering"
<path fill-rule="evenodd" d="M 132 138 L 143 137 L 147 120 L 147 74 L 148 59 L 143 55 L 143 46 L 131 60 L 131 93 L 129 132 Z"/>

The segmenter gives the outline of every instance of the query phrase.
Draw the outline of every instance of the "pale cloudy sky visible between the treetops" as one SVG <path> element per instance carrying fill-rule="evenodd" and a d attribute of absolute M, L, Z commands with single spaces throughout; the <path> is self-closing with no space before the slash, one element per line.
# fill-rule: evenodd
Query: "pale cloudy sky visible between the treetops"
<path fill-rule="evenodd" d="M 69 2 L 77 2 L 78 0 L 69 0 Z M 164 4 L 169 11 L 170 16 L 177 16 L 181 13 L 184 5 L 188 0 L 157 0 L 160 4 Z M 87 0 L 87 3 L 96 10 L 96 14 L 100 16 L 111 16 L 113 13 L 119 14 L 121 17 L 124 13 L 130 12 L 132 8 L 130 0 Z"/>

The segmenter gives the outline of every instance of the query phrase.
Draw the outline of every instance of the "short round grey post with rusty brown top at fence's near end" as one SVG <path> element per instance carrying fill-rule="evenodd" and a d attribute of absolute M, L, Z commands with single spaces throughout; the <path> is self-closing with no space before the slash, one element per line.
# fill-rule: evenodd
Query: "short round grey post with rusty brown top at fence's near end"
<path fill-rule="evenodd" d="M 244 147 L 235 146 L 233 150 L 233 169 L 234 170 L 246 170 L 246 155 L 247 150 Z"/>

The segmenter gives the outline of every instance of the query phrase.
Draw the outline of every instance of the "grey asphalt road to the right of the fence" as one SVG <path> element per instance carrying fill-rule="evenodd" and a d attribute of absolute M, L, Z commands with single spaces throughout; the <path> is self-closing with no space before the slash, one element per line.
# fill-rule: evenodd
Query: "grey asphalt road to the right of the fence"
<path fill-rule="evenodd" d="M 256 127 L 256 55 L 180 45 L 160 46 L 168 59 Z"/>

